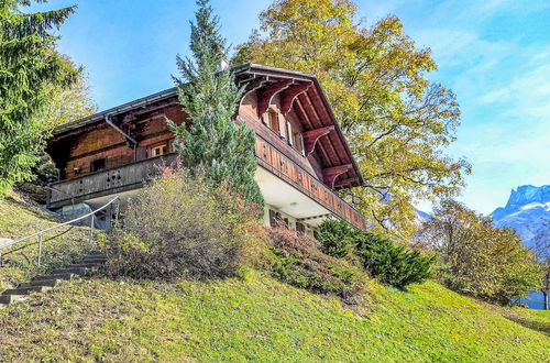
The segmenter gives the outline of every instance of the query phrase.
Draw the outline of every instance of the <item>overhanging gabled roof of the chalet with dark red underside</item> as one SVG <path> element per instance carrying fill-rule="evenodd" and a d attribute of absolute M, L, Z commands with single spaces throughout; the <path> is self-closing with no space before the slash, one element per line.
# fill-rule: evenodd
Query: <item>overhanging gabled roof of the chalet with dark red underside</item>
<path fill-rule="evenodd" d="M 308 95 L 311 96 L 306 96 L 307 99 L 302 100 L 308 102 L 314 100 L 317 106 L 322 108 L 323 114 L 326 117 L 324 118 L 319 117 L 317 120 L 312 120 L 315 121 L 316 124 L 312 123 L 309 124 L 309 129 L 323 128 L 323 127 L 334 128 L 334 132 L 332 132 L 330 136 L 322 138 L 322 141 L 320 141 L 320 144 L 323 150 L 327 148 L 337 151 L 336 153 L 332 153 L 336 154 L 332 156 L 336 156 L 337 160 L 327 158 L 326 162 L 327 164 L 332 166 L 344 163 L 350 164 L 352 166 L 352 170 L 348 173 L 348 176 L 354 177 L 356 179 L 356 182 L 354 182 L 352 185 L 363 185 L 363 178 L 361 176 L 361 172 L 353 158 L 348 142 L 340 130 L 338 121 L 332 112 L 332 108 L 330 107 L 330 103 L 319 84 L 319 80 L 315 75 L 285 68 L 258 65 L 258 64 L 244 64 L 241 66 L 237 66 L 233 68 L 233 72 L 235 74 L 239 84 L 242 86 L 246 86 L 248 90 L 251 89 L 253 84 L 263 85 L 256 87 L 264 87 L 265 85 L 273 85 L 284 79 L 292 79 L 293 82 L 298 82 L 298 84 L 308 82 L 315 86 L 311 87 L 311 90 L 307 92 Z M 301 95 L 299 97 L 305 97 L 305 96 Z M 75 132 L 78 133 L 78 129 L 82 129 L 82 132 L 85 132 L 85 129 L 88 129 L 87 128 L 88 125 L 106 122 L 107 117 L 116 117 L 118 114 L 122 116 L 123 113 L 127 112 L 134 112 L 139 111 L 140 109 L 145 109 L 155 103 L 158 105 L 160 102 L 162 103 L 175 100 L 177 100 L 176 87 L 168 88 L 163 91 L 148 95 L 139 98 L 136 100 L 110 108 L 108 110 L 88 116 L 80 120 L 62 124 L 53 130 L 53 134 L 54 138 L 57 139 L 57 138 L 64 138 L 66 134 L 69 133 L 75 133 Z M 309 119 L 307 114 L 304 114 L 304 117 Z"/>

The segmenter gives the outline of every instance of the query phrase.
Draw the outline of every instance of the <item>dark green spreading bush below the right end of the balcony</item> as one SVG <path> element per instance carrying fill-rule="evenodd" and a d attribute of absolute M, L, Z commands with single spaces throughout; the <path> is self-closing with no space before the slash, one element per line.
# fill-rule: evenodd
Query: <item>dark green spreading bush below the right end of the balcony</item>
<path fill-rule="evenodd" d="M 363 268 L 383 284 L 404 288 L 430 276 L 432 257 L 396 245 L 382 235 L 355 230 L 344 221 L 322 222 L 318 239 L 322 250 L 332 256 L 352 253 L 359 257 Z"/>

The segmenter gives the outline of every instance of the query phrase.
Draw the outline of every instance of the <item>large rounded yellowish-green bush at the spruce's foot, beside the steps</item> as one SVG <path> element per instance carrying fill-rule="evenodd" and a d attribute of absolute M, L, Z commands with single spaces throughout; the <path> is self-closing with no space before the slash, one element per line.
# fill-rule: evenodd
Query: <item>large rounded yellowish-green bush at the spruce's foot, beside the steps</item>
<path fill-rule="evenodd" d="M 130 200 L 123 226 L 105 244 L 107 271 L 134 278 L 233 276 L 257 251 L 250 231 L 258 213 L 224 186 L 166 168 Z"/>

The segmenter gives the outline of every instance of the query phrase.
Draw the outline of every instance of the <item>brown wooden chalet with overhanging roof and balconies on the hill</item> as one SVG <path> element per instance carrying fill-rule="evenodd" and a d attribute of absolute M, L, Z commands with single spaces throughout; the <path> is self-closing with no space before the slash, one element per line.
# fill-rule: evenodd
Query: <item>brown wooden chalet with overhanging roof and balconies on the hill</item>
<path fill-rule="evenodd" d="M 237 119 L 256 136 L 265 223 L 310 233 L 338 217 L 364 228 L 361 213 L 334 193 L 363 182 L 317 78 L 254 64 L 235 68 L 235 76 L 245 89 Z M 47 152 L 59 180 L 51 185 L 48 207 L 99 206 L 138 193 L 155 165 L 176 158 L 165 117 L 187 122 L 175 88 L 56 128 Z"/>

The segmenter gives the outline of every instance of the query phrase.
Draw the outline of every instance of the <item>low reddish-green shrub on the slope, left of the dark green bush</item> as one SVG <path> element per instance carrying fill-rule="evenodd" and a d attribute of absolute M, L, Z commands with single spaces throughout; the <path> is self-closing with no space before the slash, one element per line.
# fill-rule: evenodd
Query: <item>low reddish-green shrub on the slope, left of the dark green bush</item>
<path fill-rule="evenodd" d="M 350 298 L 362 290 L 361 272 L 346 261 L 319 250 L 308 237 L 284 228 L 267 231 L 273 251 L 272 272 L 277 279 L 314 293 Z"/>

